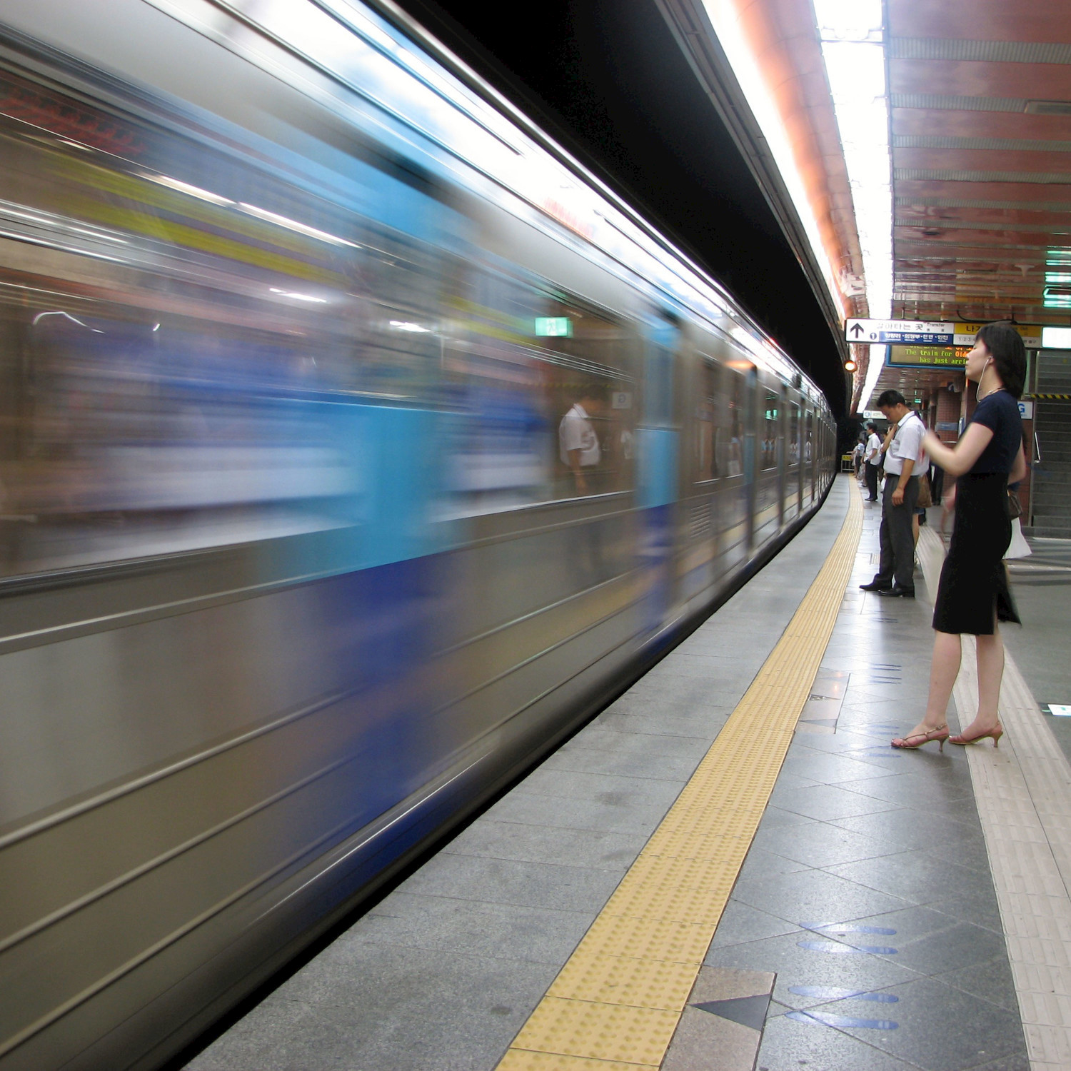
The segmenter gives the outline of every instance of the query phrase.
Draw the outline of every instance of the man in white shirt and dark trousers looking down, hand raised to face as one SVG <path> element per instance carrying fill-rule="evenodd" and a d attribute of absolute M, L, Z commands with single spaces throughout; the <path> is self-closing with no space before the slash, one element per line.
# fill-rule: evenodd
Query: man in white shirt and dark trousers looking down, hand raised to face
<path fill-rule="evenodd" d="M 929 462 L 922 454 L 925 425 L 900 391 L 883 391 L 878 408 L 889 421 L 891 438 L 885 455 L 885 491 L 881 498 L 881 563 L 863 591 L 879 595 L 915 598 L 915 538 L 911 531 L 915 506 L 919 498 L 916 465 L 925 471 Z M 921 458 L 921 461 L 920 461 Z"/>

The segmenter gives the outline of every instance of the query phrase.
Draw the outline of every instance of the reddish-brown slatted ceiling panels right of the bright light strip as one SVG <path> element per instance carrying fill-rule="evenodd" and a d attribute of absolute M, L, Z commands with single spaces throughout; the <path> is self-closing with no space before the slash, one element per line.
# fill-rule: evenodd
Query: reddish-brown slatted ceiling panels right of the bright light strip
<path fill-rule="evenodd" d="M 893 316 L 1071 322 L 1071 3 L 887 11 Z"/>

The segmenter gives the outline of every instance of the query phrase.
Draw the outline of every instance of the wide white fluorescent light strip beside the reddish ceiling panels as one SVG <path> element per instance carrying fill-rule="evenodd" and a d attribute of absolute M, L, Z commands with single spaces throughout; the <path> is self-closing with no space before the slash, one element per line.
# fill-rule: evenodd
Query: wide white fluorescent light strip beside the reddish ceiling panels
<path fill-rule="evenodd" d="M 892 174 L 881 0 L 814 0 L 821 55 L 851 185 L 870 315 L 892 311 Z M 887 347 L 871 346 L 860 408 L 866 408 Z"/>

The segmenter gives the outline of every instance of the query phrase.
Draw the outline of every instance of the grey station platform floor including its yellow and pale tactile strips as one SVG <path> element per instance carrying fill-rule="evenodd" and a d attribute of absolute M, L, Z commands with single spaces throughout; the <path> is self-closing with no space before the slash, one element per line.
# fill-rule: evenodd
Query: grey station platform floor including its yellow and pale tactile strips
<path fill-rule="evenodd" d="M 944 548 L 924 528 L 917 600 L 864 593 L 878 523 L 839 478 L 190 1071 L 1071 1067 L 1071 718 L 1041 709 L 1071 704 L 1071 556 L 1013 567 L 999 749 L 897 752 Z M 964 648 L 953 727 L 977 694 Z"/>

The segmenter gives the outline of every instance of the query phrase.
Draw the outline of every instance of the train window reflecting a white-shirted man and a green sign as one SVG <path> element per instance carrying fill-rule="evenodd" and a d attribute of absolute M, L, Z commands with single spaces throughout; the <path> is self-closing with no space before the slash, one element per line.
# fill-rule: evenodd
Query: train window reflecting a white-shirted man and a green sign
<path fill-rule="evenodd" d="M 508 266 L 454 283 L 444 341 L 458 413 L 451 511 L 486 513 L 632 486 L 634 383 L 624 328 Z"/>

